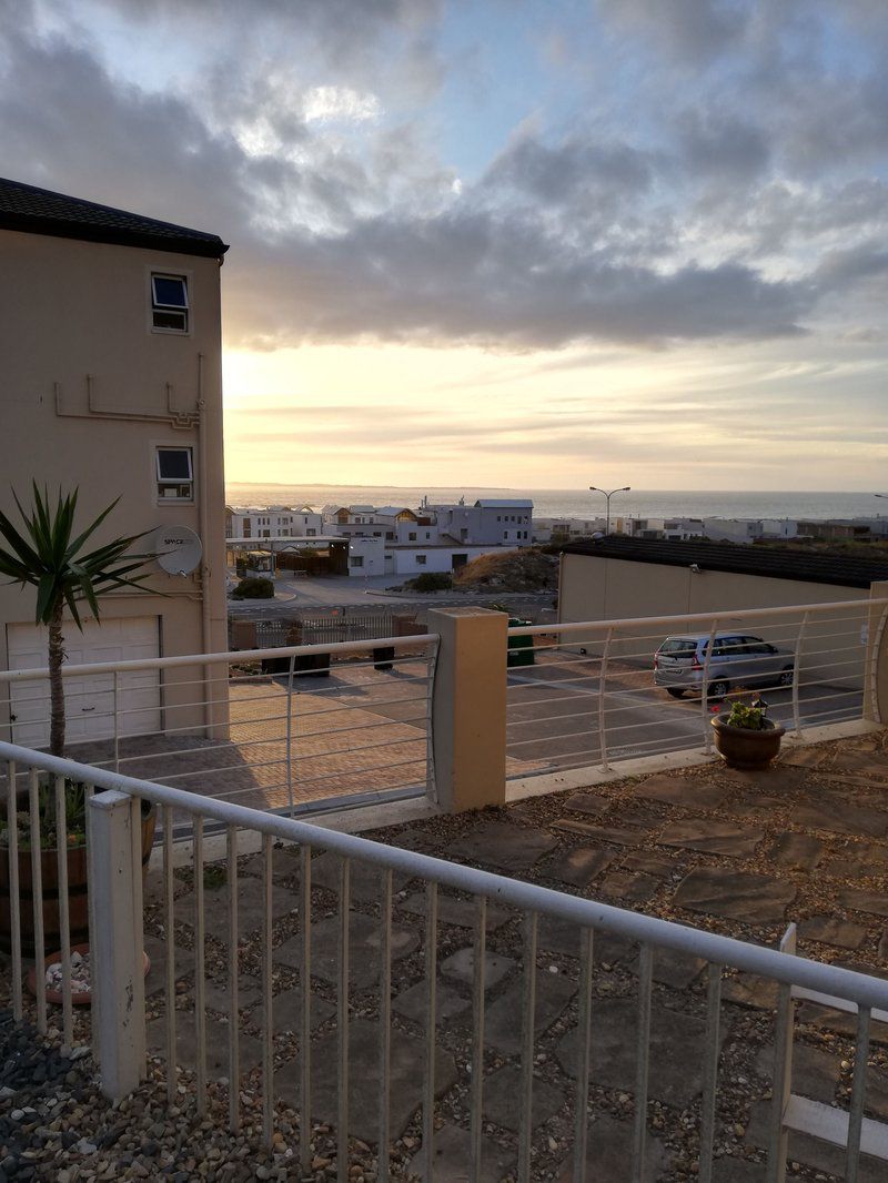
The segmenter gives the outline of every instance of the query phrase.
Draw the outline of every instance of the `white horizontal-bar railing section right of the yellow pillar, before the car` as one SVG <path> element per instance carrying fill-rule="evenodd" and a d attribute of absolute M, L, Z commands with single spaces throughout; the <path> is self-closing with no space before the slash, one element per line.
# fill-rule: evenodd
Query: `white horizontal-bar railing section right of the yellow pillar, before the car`
<path fill-rule="evenodd" d="M 534 642 L 534 666 L 509 671 L 508 775 L 607 770 L 616 761 L 701 746 L 708 754 L 712 715 L 753 692 L 764 692 L 768 717 L 797 737 L 861 718 L 866 703 L 877 702 L 887 618 L 888 600 L 880 599 L 510 628 L 513 644 Z M 753 655 L 735 674 L 735 658 L 713 657 L 716 633 L 761 638 L 783 655 Z M 707 638 L 684 702 L 657 685 L 655 655 L 668 635 Z M 510 649 L 513 660 L 522 652 Z"/>

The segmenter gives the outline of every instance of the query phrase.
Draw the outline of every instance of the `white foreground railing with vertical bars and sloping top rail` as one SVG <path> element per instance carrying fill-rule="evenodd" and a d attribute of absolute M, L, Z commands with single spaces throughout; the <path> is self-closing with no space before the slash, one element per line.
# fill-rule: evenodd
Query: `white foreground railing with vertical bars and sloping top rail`
<path fill-rule="evenodd" d="M 240 1090 L 238 1087 L 240 1068 L 247 1065 L 240 1059 L 240 1017 L 239 1017 L 239 968 L 238 939 L 238 898 L 240 868 L 237 859 L 237 833 L 247 830 L 259 836 L 262 858 L 262 935 L 260 956 L 258 958 L 258 988 L 262 996 L 258 1023 L 260 1027 L 260 1060 L 263 1090 L 263 1136 L 271 1144 L 275 1132 L 275 1104 L 278 1099 L 276 1090 L 275 1062 L 275 1015 L 283 1000 L 274 993 L 272 965 L 276 958 L 275 945 L 275 893 L 272 841 L 281 840 L 294 843 L 298 849 L 298 862 L 294 860 L 292 878 L 297 880 L 297 904 L 294 916 L 297 917 L 298 978 L 302 985 L 301 1001 L 292 1013 L 294 1024 L 298 1032 L 298 1060 L 295 1074 L 295 1095 L 283 1099 L 295 1101 L 300 1114 L 301 1129 L 311 1129 L 310 1116 L 314 1110 L 314 1077 L 311 1072 L 311 1000 L 315 993 L 313 974 L 317 972 L 315 958 L 327 958 L 328 967 L 332 950 L 318 946 L 318 926 L 313 917 L 318 911 L 330 917 L 335 916 L 335 936 L 330 933 L 329 924 L 322 930 L 335 949 L 335 1060 L 336 1060 L 336 1118 L 333 1123 L 337 1139 L 336 1170 L 340 1181 L 349 1177 L 349 1097 L 350 1074 L 354 1071 L 349 1052 L 350 1008 L 355 996 L 355 985 L 349 974 L 350 925 L 354 909 L 350 897 L 352 873 L 354 868 L 371 867 L 379 874 L 379 890 L 372 900 L 372 914 L 363 916 L 363 923 L 372 923 L 375 930 L 375 944 L 379 950 L 375 974 L 368 981 L 371 987 L 362 990 L 360 1008 L 362 1013 L 374 1010 L 378 1016 L 377 1067 L 379 1073 L 378 1105 L 378 1177 L 388 1177 L 388 1146 L 392 1136 L 398 1131 L 392 1129 L 390 1120 L 391 1086 L 391 984 L 392 984 L 392 914 L 393 914 L 393 877 L 405 877 L 419 880 L 425 885 L 425 926 L 423 988 L 425 994 L 424 1040 L 422 1071 L 417 1066 L 416 1111 L 422 1110 L 423 1143 L 422 1155 L 425 1163 L 425 1177 L 432 1177 L 432 1163 L 436 1138 L 436 1111 L 440 1113 L 436 1098 L 436 1056 L 440 1023 L 436 1010 L 436 990 L 438 985 L 438 905 L 442 899 L 450 899 L 443 892 L 450 890 L 466 894 L 474 901 L 474 938 L 472 938 L 472 985 L 471 985 L 471 1069 L 464 1069 L 463 1077 L 450 1097 L 448 1112 L 456 1108 L 470 1129 L 469 1177 L 480 1177 L 481 1171 L 481 1131 L 484 1113 L 484 1091 L 487 1074 L 485 1065 L 485 948 L 487 948 L 487 909 L 488 903 L 515 913 L 521 938 L 520 948 L 522 967 L 520 981 L 522 993 L 521 1006 L 521 1051 L 517 1055 L 521 1087 L 514 1097 L 514 1112 L 517 1130 L 517 1178 L 522 1183 L 532 1177 L 532 1162 L 540 1148 L 538 1140 L 543 1134 L 534 1133 L 532 1105 L 536 1086 L 534 1059 L 538 1048 L 535 1034 L 535 989 L 540 969 L 536 955 L 539 951 L 538 926 L 540 918 L 552 918 L 575 926 L 577 945 L 574 951 L 577 1001 L 571 1011 L 575 1015 L 577 1064 L 575 1084 L 571 1098 L 573 1114 L 573 1175 L 572 1178 L 586 1178 L 586 1144 L 590 1120 L 594 1116 L 596 1103 L 592 1086 L 596 1084 L 596 1060 L 590 1060 L 590 1034 L 593 1020 L 593 984 L 598 965 L 594 961 L 596 938 L 600 933 L 616 933 L 637 946 L 637 1040 L 636 1079 L 633 1094 L 633 1121 L 626 1130 L 625 1156 L 631 1162 L 631 1177 L 643 1178 L 645 1144 L 649 1137 L 648 1100 L 650 1098 L 650 1033 L 651 1033 L 651 996 L 652 964 L 657 950 L 673 950 L 689 957 L 702 958 L 708 964 L 708 987 L 706 1003 L 706 1032 L 700 1053 L 702 1067 L 702 1093 L 695 1103 L 694 1121 L 699 1129 L 699 1177 L 704 1181 L 713 1178 L 714 1148 L 716 1142 L 718 1119 L 716 1103 L 719 1097 L 721 1030 L 723 1023 L 721 1009 L 721 982 L 726 969 L 736 969 L 779 984 L 778 1003 L 774 1013 L 773 1039 L 776 1046 L 773 1077 L 771 1081 L 771 1121 L 768 1138 L 768 1178 L 781 1181 L 785 1174 L 786 1134 L 790 1127 L 804 1129 L 819 1137 L 831 1139 L 847 1150 L 847 1178 L 856 1178 L 861 1151 L 888 1156 L 888 1139 L 884 1127 L 864 1118 L 866 1106 L 866 1066 L 869 1048 L 869 1026 L 871 1020 L 888 1021 L 888 982 L 869 977 L 836 965 L 819 964 L 786 951 L 777 951 L 760 945 L 747 944 L 736 939 L 712 932 L 686 927 L 680 924 L 648 917 L 636 912 L 623 911 L 597 900 L 567 896 L 561 892 L 539 887 L 533 884 L 506 879 L 496 874 L 458 866 L 418 854 L 407 849 L 384 846 L 365 839 L 335 833 L 316 826 L 305 825 L 281 816 L 270 815 L 230 801 L 211 800 L 186 793 L 181 789 L 137 781 L 109 770 L 99 770 L 70 761 L 57 759 L 18 746 L 0 743 L 0 762 L 7 767 L 7 793 L 9 806 L 14 801 L 17 783 L 24 778 L 33 793 L 36 774 L 49 775 L 54 784 L 57 803 L 59 794 L 64 793 L 65 778 L 78 781 L 88 787 L 90 851 L 90 912 L 92 931 L 92 968 L 94 998 L 92 1022 L 97 1035 L 101 1062 L 102 1085 L 109 1097 L 120 1097 L 134 1088 L 146 1073 L 146 1034 L 144 1034 L 144 996 L 142 985 L 142 881 L 139 860 L 139 830 L 141 828 L 141 802 L 147 801 L 161 810 L 161 830 L 163 835 L 163 929 L 166 943 L 166 1073 L 170 1101 L 181 1104 L 178 1095 L 178 1042 L 175 1001 L 175 944 L 172 939 L 176 919 L 173 898 L 173 814 L 185 815 L 191 822 L 188 842 L 192 853 L 192 871 L 195 891 L 192 900 L 191 923 L 193 924 L 195 946 L 195 1010 L 197 1064 L 194 1090 L 195 1105 L 199 1113 L 205 1112 L 206 1094 L 204 1082 L 207 1079 L 207 1033 L 206 1020 L 206 961 L 207 942 L 205 897 L 202 890 L 202 872 L 205 865 L 204 829 L 206 822 L 215 822 L 224 827 L 227 835 L 226 872 L 227 872 L 227 924 L 224 944 L 227 945 L 227 1062 L 229 1071 L 229 1123 L 236 1130 L 240 1121 Z M 34 817 L 31 815 L 30 839 L 32 848 L 39 847 L 39 833 L 33 829 Z M 324 900 L 322 906 L 313 899 L 313 853 L 323 849 L 339 859 L 336 877 L 337 904 L 332 913 Z M 14 838 L 9 842 L 11 866 L 17 856 Z M 59 870 L 62 861 L 59 861 Z M 329 884 L 329 880 L 328 880 Z M 13 932 L 20 914 L 13 901 Z M 36 911 L 37 917 L 37 911 Z M 65 1040 L 72 1037 L 71 1000 L 70 1000 L 70 938 L 63 920 L 62 957 L 64 967 L 64 1033 Z M 371 942 L 372 944 L 373 942 Z M 793 949 L 793 930 L 787 932 L 784 948 Z M 37 949 L 38 964 L 44 950 Z M 13 939 L 13 987 L 14 1013 L 22 1016 L 22 997 L 20 980 L 22 962 L 20 942 Z M 327 972 L 327 970 L 326 970 Z M 19 983 L 15 987 L 15 983 Z M 374 990 L 373 983 L 377 989 Z M 366 983 L 365 983 L 366 984 Z M 371 997 L 375 995 L 375 1001 Z M 825 1116 L 804 1099 L 796 1098 L 791 1091 L 791 1048 L 793 1030 L 793 998 L 810 998 L 837 1009 L 857 1014 L 857 1035 L 854 1052 L 854 1088 L 850 1107 L 847 1113 L 821 1106 Z M 290 1003 L 292 1004 L 292 1003 Z M 571 1004 L 573 1007 L 573 1003 Z M 38 1022 L 46 1027 L 45 998 L 37 1000 Z M 628 1034 L 628 1037 L 632 1037 Z M 686 1056 L 693 1052 L 686 1049 Z M 497 1055 L 497 1062 L 503 1056 Z M 506 1056 L 508 1059 L 508 1056 Z M 489 1064 L 489 1060 L 488 1060 Z M 459 1101 L 459 1091 L 465 1090 L 465 1101 Z M 690 1112 L 690 1111 L 689 1111 Z M 732 1117 L 732 1121 L 734 1118 Z M 311 1146 L 308 1137 L 302 1137 L 297 1148 L 297 1157 L 303 1175 L 309 1172 Z"/>

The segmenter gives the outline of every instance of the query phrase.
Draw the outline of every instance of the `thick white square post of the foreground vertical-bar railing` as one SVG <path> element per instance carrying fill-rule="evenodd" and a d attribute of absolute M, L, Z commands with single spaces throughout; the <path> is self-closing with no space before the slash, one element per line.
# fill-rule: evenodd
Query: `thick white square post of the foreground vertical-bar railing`
<path fill-rule="evenodd" d="M 102 1092 L 120 1100 L 137 1087 L 144 1066 L 142 867 L 134 858 L 135 810 L 126 793 L 96 794 L 90 809 L 90 893 L 95 930 L 90 959 Z M 141 1004 L 140 1004 L 141 1001 Z"/>

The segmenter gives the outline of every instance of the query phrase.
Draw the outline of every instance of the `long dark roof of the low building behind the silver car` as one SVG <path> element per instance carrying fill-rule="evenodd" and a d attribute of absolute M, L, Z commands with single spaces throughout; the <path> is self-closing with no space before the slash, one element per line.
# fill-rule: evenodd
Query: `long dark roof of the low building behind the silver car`
<path fill-rule="evenodd" d="M 690 567 L 702 571 L 731 571 L 735 575 L 762 575 L 803 583 L 832 583 L 836 587 L 868 588 L 876 580 L 888 580 L 888 560 L 823 555 L 789 547 L 731 545 L 706 542 L 657 542 L 611 536 L 594 542 L 564 547 L 566 555 L 593 558 L 623 558 L 630 563 L 658 563 L 663 567 Z"/>

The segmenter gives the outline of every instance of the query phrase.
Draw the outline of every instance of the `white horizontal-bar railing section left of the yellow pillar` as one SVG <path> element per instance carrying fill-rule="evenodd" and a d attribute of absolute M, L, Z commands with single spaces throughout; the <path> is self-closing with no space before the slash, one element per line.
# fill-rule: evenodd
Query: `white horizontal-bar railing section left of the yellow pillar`
<path fill-rule="evenodd" d="M 65 665 L 66 748 L 291 816 L 431 797 L 437 646 L 424 634 Z M 46 670 L 0 671 L 0 738 L 41 748 L 49 720 Z"/>

